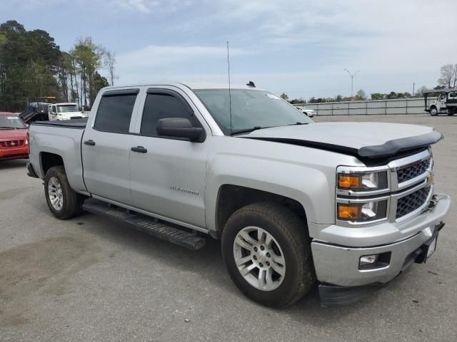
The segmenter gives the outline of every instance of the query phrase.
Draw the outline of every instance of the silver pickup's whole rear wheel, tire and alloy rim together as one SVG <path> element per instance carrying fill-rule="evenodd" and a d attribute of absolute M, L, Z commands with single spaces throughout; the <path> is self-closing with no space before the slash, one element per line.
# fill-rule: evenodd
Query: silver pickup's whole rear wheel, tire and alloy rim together
<path fill-rule="evenodd" d="M 44 195 L 52 214 L 69 219 L 81 213 L 84 197 L 71 189 L 63 166 L 51 167 L 44 179 Z"/>

